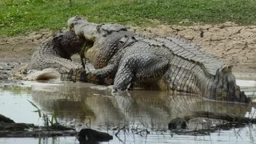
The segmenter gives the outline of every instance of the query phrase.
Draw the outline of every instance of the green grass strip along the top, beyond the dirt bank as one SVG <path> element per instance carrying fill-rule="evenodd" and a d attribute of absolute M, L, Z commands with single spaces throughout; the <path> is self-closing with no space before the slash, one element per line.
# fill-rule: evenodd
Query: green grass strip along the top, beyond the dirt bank
<path fill-rule="evenodd" d="M 1 0 L 0 35 L 59 30 L 68 18 L 86 15 L 90 22 L 154 26 L 182 21 L 256 24 L 255 0 Z"/>

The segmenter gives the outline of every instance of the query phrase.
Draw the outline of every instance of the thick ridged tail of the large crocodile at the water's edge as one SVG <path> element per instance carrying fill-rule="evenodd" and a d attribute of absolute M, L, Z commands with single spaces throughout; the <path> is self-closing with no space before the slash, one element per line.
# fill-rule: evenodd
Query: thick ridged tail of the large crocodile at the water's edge
<path fill-rule="evenodd" d="M 199 94 L 203 98 L 218 101 L 250 102 L 250 98 L 246 98 L 246 94 L 236 84 L 233 66 L 223 65 L 216 70 L 216 74 L 211 75 L 199 62 L 173 57 L 169 62 L 170 68 L 163 76 L 170 90 Z"/>

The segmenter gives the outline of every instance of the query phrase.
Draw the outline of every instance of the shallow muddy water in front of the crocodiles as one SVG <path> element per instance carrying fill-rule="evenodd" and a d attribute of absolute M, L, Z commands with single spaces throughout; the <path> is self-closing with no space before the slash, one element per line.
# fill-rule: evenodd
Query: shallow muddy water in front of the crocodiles
<path fill-rule="evenodd" d="M 247 95 L 256 97 L 255 81 L 237 81 Z M 153 90 L 132 90 L 112 96 L 110 88 L 86 83 L 24 82 L 23 86 L 0 90 L 0 114 L 15 122 L 43 125 L 34 113 L 34 102 L 46 114 L 57 114 L 58 121 L 77 130 L 93 128 L 116 134 L 103 143 L 254 143 L 256 126 L 216 130 L 208 135 L 168 130 L 171 119 L 192 111 L 243 114 L 254 117 L 253 106 L 209 102 L 189 94 L 166 94 Z M 188 130 L 205 128 L 208 118 L 192 119 Z M 213 120 L 212 120 L 213 121 Z M 221 121 L 214 121 L 220 123 Z M 146 133 L 146 132 L 149 133 Z M 66 138 L 0 138 L 0 143 L 78 143 Z"/>

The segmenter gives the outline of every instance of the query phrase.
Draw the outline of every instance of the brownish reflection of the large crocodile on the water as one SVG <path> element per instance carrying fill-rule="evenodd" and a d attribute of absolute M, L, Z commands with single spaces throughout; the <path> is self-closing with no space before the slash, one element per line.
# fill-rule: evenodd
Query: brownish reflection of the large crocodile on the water
<path fill-rule="evenodd" d="M 32 98 L 43 109 L 57 112 L 65 122 L 89 124 L 97 129 L 166 131 L 171 119 L 194 111 L 245 115 L 251 106 L 209 102 L 190 94 L 166 94 L 163 91 L 132 90 L 112 96 L 110 89 L 90 84 L 32 86 Z M 250 113 L 251 114 L 251 113 Z"/>

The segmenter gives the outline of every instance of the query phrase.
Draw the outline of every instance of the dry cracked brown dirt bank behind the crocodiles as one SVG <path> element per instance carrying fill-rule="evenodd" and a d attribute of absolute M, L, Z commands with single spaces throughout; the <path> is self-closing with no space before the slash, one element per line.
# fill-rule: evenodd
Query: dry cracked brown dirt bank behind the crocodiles
<path fill-rule="evenodd" d="M 181 35 L 202 50 L 233 64 L 234 72 L 256 74 L 256 26 L 226 22 L 204 26 L 132 27 L 130 30 L 142 34 Z M 50 35 L 50 30 L 38 30 L 13 38 L 0 36 L 0 62 L 28 62 L 36 47 Z"/>

